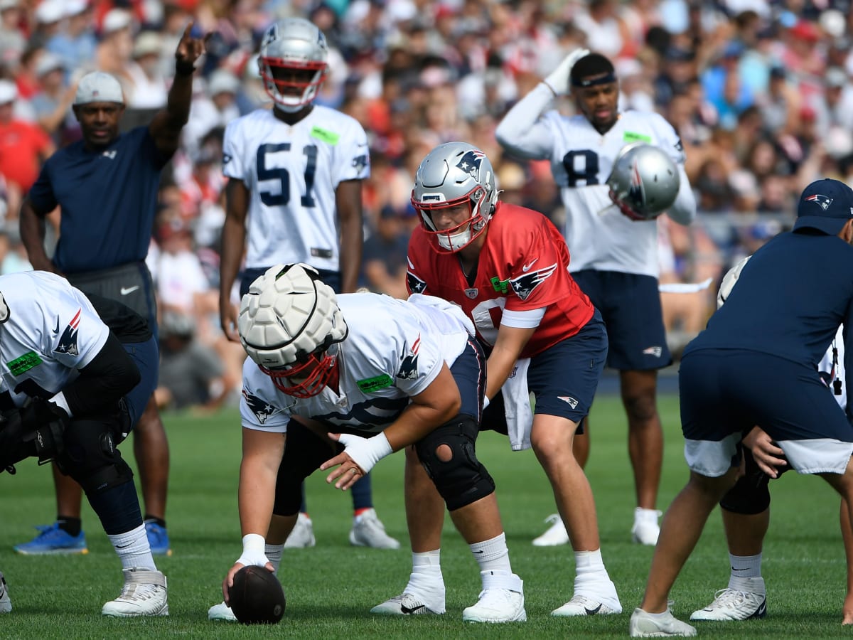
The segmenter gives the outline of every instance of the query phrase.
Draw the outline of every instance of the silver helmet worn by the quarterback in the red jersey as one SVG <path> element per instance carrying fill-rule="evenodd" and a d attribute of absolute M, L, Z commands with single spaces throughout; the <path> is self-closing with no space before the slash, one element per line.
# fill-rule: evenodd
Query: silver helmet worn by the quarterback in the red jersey
<path fill-rule="evenodd" d="M 438 251 L 455 253 L 485 230 L 495 212 L 495 171 L 485 154 L 468 143 L 444 143 L 421 160 L 415 173 L 412 206 Z M 438 229 L 432 212 L 467 203 L 471 216 L 450 229 Z"/>

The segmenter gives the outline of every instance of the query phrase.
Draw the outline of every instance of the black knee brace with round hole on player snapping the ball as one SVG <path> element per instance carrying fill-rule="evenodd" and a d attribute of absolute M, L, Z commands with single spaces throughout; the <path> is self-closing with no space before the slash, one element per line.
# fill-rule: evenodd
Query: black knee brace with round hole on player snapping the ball
<path fill-rule="evenodd" d="M 474 450 L 478 429 L 473 417 L 456 416 L 415 445 L 421 464 L 450 511 L 495 491 L 495 480 L 479 462 Z M 443 460 L 439 453 L 443 445 L 450 450 L 448 460 Z"/>

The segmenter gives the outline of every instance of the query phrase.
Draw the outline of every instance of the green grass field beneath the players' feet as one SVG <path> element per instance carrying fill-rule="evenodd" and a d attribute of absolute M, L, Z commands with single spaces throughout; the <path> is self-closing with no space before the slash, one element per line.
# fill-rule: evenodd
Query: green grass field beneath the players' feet
<path fill-rule="evenodd" d="M 659 504 L 665 509 L 687 479 L 678 423 L 678 400 L 660 400 L 666 431 Z M 583 620 L 552 619 L 549 612 L 571 596 L 571 549 L 536 548 L 554 499 L 531 451 L 513 453 L 505 439 L 485 433 L 479 456 L 497 482 L 516 573 L 525 580 L 528 621 L 494 627 L 463 625 L 461 609 L 479 591 L 477 565 L 445 521 L 442 565 L 447 614 L 406 620 L 377 618 L 368 609 L 396 595 L 409 577 L 403 516 L 401 455 L 374 469 L 374 503 L 403 550 L 364 550 L 347 543 L 348 494 L 309 480 L 309 509 L 317 546 L 288 550 L 280 578 L 287 593 L 281 624 L 244 627 L 211 623 L 207 608 L 220 602 L 219 584 L 240 555 L 236 512 L 240 427 L 234 410 L 217 416 L 165 416 L 171 443 L 168 523 L 174 556 L 158 559 L 169 578 L 170 617 L 105 620 L 103 602 L 121 586 L 119 562 L 88 505 L 84 528 L 90 553 L 71 557 L 16 556 L 11 547 L 29 539 L 32 525 L 54 517 L 48 468 L 21 465 L 15 477 L 0 475 L 0 569 L 8 576 L 15 610 L 0 616 L 0 638 L 91 637 L 626 637 L 628 618 L 640 602 L 652 550 L 630 543 L 634 488 L 625 443 L 624 414 L 616 397 L 602 396 L 592 416 L 593 448 L 587 473 L 595 492 L 602 552 L 625 613 Z M 125 445 L 130 459 L 131 447 Z M 748 623 L 705 624 L 706 637 L 850 637 L 843 628 L 844 552 L 838 532 L 838 498 L 824 482 L 786 474 L 773 483 L 773 521 L 764 548 L 769 617 Z M 728 580 L 728 556 L 720 517 L 711 515 L 705 535 L 672 592 L 676 615 L 710 602 Z"/>

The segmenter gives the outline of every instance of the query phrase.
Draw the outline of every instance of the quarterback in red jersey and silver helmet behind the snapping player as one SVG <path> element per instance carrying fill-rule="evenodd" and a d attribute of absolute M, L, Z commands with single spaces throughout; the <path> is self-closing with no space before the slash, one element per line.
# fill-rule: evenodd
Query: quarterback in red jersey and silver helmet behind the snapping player
<path fill-rule="evenodd" d="M 508 433 L 515 450 L 532 447 L 548 475 L 577 567 L 572 599 L 552 614 L 619 614 L 622 605 L 601 559 L 592 490 L 572 453 L 604 368 L 604 323 L 569 275 L 560 231 L 541 213 L 498 202 L 498 194 L 479 148 L 446 143 L 427 154 L 412 191 L 421 227 L 409 241 L 409 292 L 450 300 L 473 320 L 489 352 L 490 404 L 481 428 Z M 535 415 L 529 393 L 536 396 Z M 413 602 L 424 605 L 419 613 L 444 604 L 443 516 L 438 493 L 407 451 L 413 571 L 403 594 L 374 613 L 410 614 Z M 406 607 L 393 606 L 403 601 Z"/>

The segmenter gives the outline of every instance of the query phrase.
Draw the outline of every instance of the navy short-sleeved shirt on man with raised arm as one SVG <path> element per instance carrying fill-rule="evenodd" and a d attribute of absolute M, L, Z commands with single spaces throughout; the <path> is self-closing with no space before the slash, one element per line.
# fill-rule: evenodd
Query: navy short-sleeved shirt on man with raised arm
<path fill-rule="evenodd" d="M 154 145 L 148 126 L 123 133 L 98 151 L 85 148 L 81 140 L 53 154 L 29 198 L 39 214 L 62 207 L 53 258 L 57 268 L 78 273 L 144 260 L 160 172 L 168 160 Z"/>

